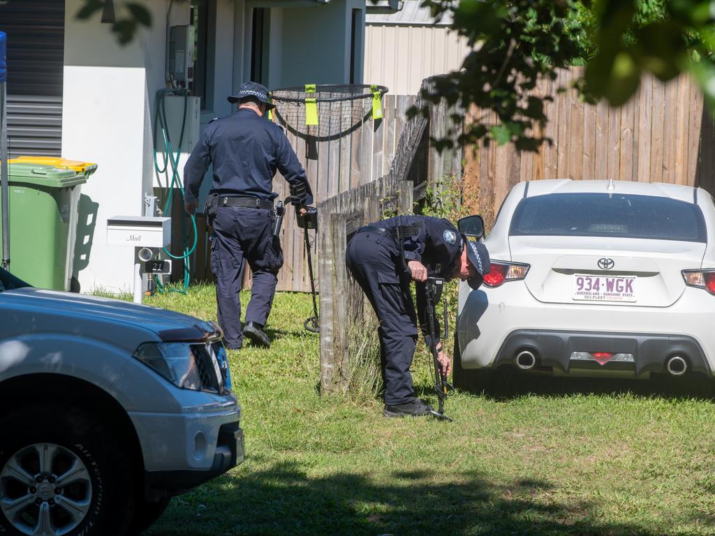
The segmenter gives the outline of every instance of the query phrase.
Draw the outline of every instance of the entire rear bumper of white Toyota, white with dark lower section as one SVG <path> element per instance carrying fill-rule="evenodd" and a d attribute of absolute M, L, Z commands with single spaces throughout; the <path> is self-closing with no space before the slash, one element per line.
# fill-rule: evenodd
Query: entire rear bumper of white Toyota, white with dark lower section
<path fill-rule="evenodd" d="M 518 344 L 515 334 L 519 334 L 526 342 L 536 339 L 545 348 L 539 351 L 543 358 L 551 358 L 549 354 L 556 352 L 554 362 L 548 365 L 554 372 L 573 369 L 571 352 L 620 351 L 621 347 L 632 350 L 623 353 L 638 357 L 638 374 L 652 372 L 654 363 L 662 370 L 670 351 L 684 352 L 691 370 L 709 375 L 715 371 L 715 329 L 711 325 L 715 297 L 700 289 L 686 288 L 670 307 L 635 307 L 538 302 L 523 282 L 475 291 L 460 284 L 459 302 L 457 334 L 465 369 L 507 362 L 508 353 Z M 593 343 L 598 345 L 591 349 L 576 347 L 581 342 L 591 344 L 579 340 L 584 337 L 596 337 Z M 594 374 L 606 370 L 593 364 Z M 633 364 L 631 370 L 636 373 Z"/>

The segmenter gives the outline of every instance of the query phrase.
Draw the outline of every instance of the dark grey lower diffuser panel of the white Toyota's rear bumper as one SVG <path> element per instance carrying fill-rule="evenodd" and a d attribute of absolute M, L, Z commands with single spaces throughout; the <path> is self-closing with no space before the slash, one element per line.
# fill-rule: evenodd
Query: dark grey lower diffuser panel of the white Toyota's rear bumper
<path fill-rule="evenodd" d="M 692 337 L 668 334 L 590 333 L 519 329 L 508 335 L 497 353 L 492 367 L 513 364 L 518 352 L 529 349 L 536 354 L 539 367 L 551 367 L 568 373 L 571 368 L 631 371 L 640 376 L 648 372 L 664 372 L 666 360 L 684 356 L 692 372 L 711 374 L 700 344 Z M 573 352 L 611 352 L 631 354 L 633 362 L 572 360 Z"/>

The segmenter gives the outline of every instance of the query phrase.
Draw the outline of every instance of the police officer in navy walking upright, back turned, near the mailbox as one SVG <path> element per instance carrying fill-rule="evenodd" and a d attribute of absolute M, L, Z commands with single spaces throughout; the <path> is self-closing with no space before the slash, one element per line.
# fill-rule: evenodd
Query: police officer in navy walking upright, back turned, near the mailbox
<path fill-rule="evenodd" d="M 238 111 L 207 125 L 184 167 L 184 201 L 186 212 L 194 214 L 202 179 L 213 164 L 207 215 L 214 229 L 211 268 L 219 324 L 229 348 L 242 347 L 244 335 L 267 347 L 270 339 L 263 329 L 283 264 L 280 241 L 272 236 L 276 170 L 290 183 L 300 212 L 312 203 L 312 192 L 285 133 L 265 117 L 274 107 L 265 86 L 246 82 L 228 101 L 237 103 Z M 242 329 L 239 291 L 245 261 L 252 270 L 253 287 Z"/>

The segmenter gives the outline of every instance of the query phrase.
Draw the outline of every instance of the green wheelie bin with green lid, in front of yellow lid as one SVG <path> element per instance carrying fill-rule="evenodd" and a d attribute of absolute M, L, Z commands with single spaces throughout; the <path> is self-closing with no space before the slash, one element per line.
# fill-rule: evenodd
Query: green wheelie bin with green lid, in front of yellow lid
<path fill-rule="evenodd" d="M 77 204 L 87 175 L 8 161 L 10 272 L 45 289 L 69 290 Z"/>

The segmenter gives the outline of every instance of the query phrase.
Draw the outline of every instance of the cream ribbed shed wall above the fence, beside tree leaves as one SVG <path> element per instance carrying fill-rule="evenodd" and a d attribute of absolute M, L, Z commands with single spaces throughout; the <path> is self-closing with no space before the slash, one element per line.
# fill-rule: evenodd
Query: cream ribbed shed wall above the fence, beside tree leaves
<path fill-rule="evenodd" d="M 388 86 L 396 95 L 416 95 L 423 79 L 460 69 L 466 39 L 446 26 L 368 24 L 365 84 Z"/>

